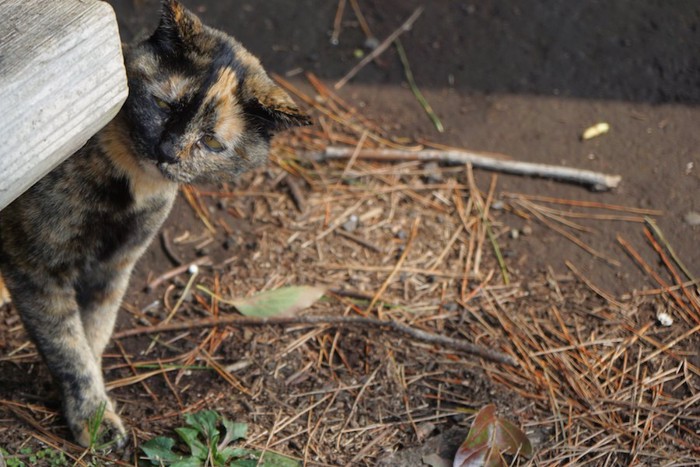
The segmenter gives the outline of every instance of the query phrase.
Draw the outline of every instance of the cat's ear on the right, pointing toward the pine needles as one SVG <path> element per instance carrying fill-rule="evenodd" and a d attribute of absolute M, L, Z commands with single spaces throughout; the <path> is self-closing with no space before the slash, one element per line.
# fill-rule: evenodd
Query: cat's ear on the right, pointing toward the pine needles
<path fill-rule="evenodd" d="M 274 133 L 311 124 L 311 118 L 299 110 L 289 94 L 267 76 L 248 79 L 246 84 L 251 98 L 244 104 L 245 112 L 266 130 Z"/>

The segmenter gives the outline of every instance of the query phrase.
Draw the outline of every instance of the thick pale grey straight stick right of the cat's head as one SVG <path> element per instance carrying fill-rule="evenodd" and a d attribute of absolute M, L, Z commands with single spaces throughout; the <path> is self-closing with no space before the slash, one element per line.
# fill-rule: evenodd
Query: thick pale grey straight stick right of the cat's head
<path fill-rule="evenodd" d="M 307 155 L 317 161 L 327 159 L 347 159 L 351 157 L 354 148 L 328 146 L 323 152 L 310 152 Z M 622 177 L 609 175 L 591 170 L 574 169 L 557 165 L 537 164 L 494 159 L 471 151 L 439 151 L 424 149 L 422 151 L 402 151 L 397 149 L 363 149 L 357 155 L 358 159 L 378 161 L 436 161 L 447 164 L 467 164 L 474 167 L 505 172 L 517 175 L 530 175 L 542 178 L 553 178 L 588 186 L 594 191 L 606 191 L 616 188 Z"/>

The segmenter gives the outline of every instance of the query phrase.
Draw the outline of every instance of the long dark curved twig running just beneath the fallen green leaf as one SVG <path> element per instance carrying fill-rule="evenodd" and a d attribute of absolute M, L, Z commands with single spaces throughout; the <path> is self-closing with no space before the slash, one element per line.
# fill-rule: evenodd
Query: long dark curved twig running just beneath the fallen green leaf
<path fill-rule="evenodd" d="M 271 318 L 249 318 L 246 316 L 229 315 L 200 320 L 189 320 L 178 323 L 161 324 L 156 326 L 143 326 L 127 329 L 114 334 L 115 339 L 139 336 L 143 334 L 153 334 L 156 332 L 183 331 L 188 329 L 214 327 L 214 326 L 266 326 L 293 325 L 293 324 L 330 324 L 334 326 L 367 326 L 371 328 L 388 329 L 390 331 L 404 334 L 413 339 L 428 342 L 430 344 L 443 345 L 461 350 L 468 354 L 476 355 L 492 362 L 505 363 L 506 365 L 518 366 L 518 362 L 504 353 L 487 349 L 463 339 L 453 339 L 451 337 L 431 334 L 420 329 L 407 326 L 397 321 L 380 320 L 364 316 L 276 316 Z"/>

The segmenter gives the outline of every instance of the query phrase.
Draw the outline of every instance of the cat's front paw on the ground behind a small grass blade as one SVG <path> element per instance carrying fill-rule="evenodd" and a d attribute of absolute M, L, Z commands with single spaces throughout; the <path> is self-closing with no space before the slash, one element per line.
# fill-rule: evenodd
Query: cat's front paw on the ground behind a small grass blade
<path fill-rule="evenodd" d="M 73 417 L 68 423 L 75 440 L 83 447 L 98 450 L 121 449 L 127 441 L 126 430 L 111 401 L 90 412 Z M 103 411 L 104 409 L 104 411 Z"/>

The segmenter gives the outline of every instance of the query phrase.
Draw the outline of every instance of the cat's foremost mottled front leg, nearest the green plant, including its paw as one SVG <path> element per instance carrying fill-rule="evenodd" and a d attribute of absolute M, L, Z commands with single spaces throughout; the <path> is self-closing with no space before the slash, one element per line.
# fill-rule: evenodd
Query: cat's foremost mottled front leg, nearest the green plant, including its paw
<path fill-rule="evenodd" d="M 29 288 L 25 282 L 17 289 L 21 293 L 14 295 L 15 305 L 61 387 L 65 417 L 76 441 L 85 447 L 121 447 L 126 431 L 105 392 L 73 290 L 50 285 Z"/>

